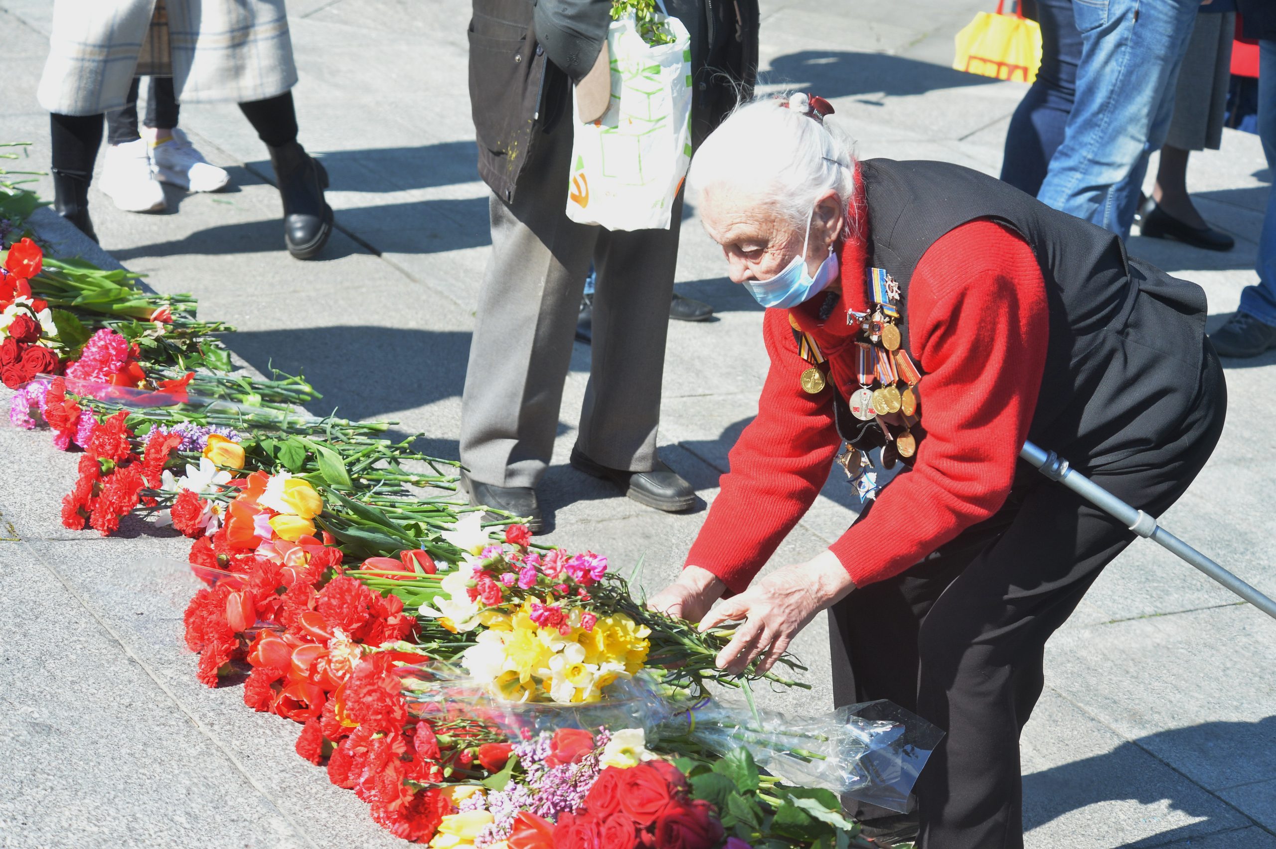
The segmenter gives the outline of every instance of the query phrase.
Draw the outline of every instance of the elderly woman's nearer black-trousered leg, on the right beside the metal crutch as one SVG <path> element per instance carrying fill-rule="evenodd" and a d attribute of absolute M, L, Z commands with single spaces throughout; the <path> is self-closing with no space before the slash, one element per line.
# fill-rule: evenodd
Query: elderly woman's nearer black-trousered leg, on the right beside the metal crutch
<path fill-rule="evenodd" d="M 1226 389 L 1212 349 L 1168 445 L 1104 467 L 1095 483 L 1160 515 L 1222 432 Z M 923 622 L 917 714 L 947 734 L 917 783 L 923 849 L 1020 849 L 1020 732 L 1042 687 L 1045 641 L 1134 539 L 1122 523 L 1042 479 L 1004 535 L 953 580 Z"/>

